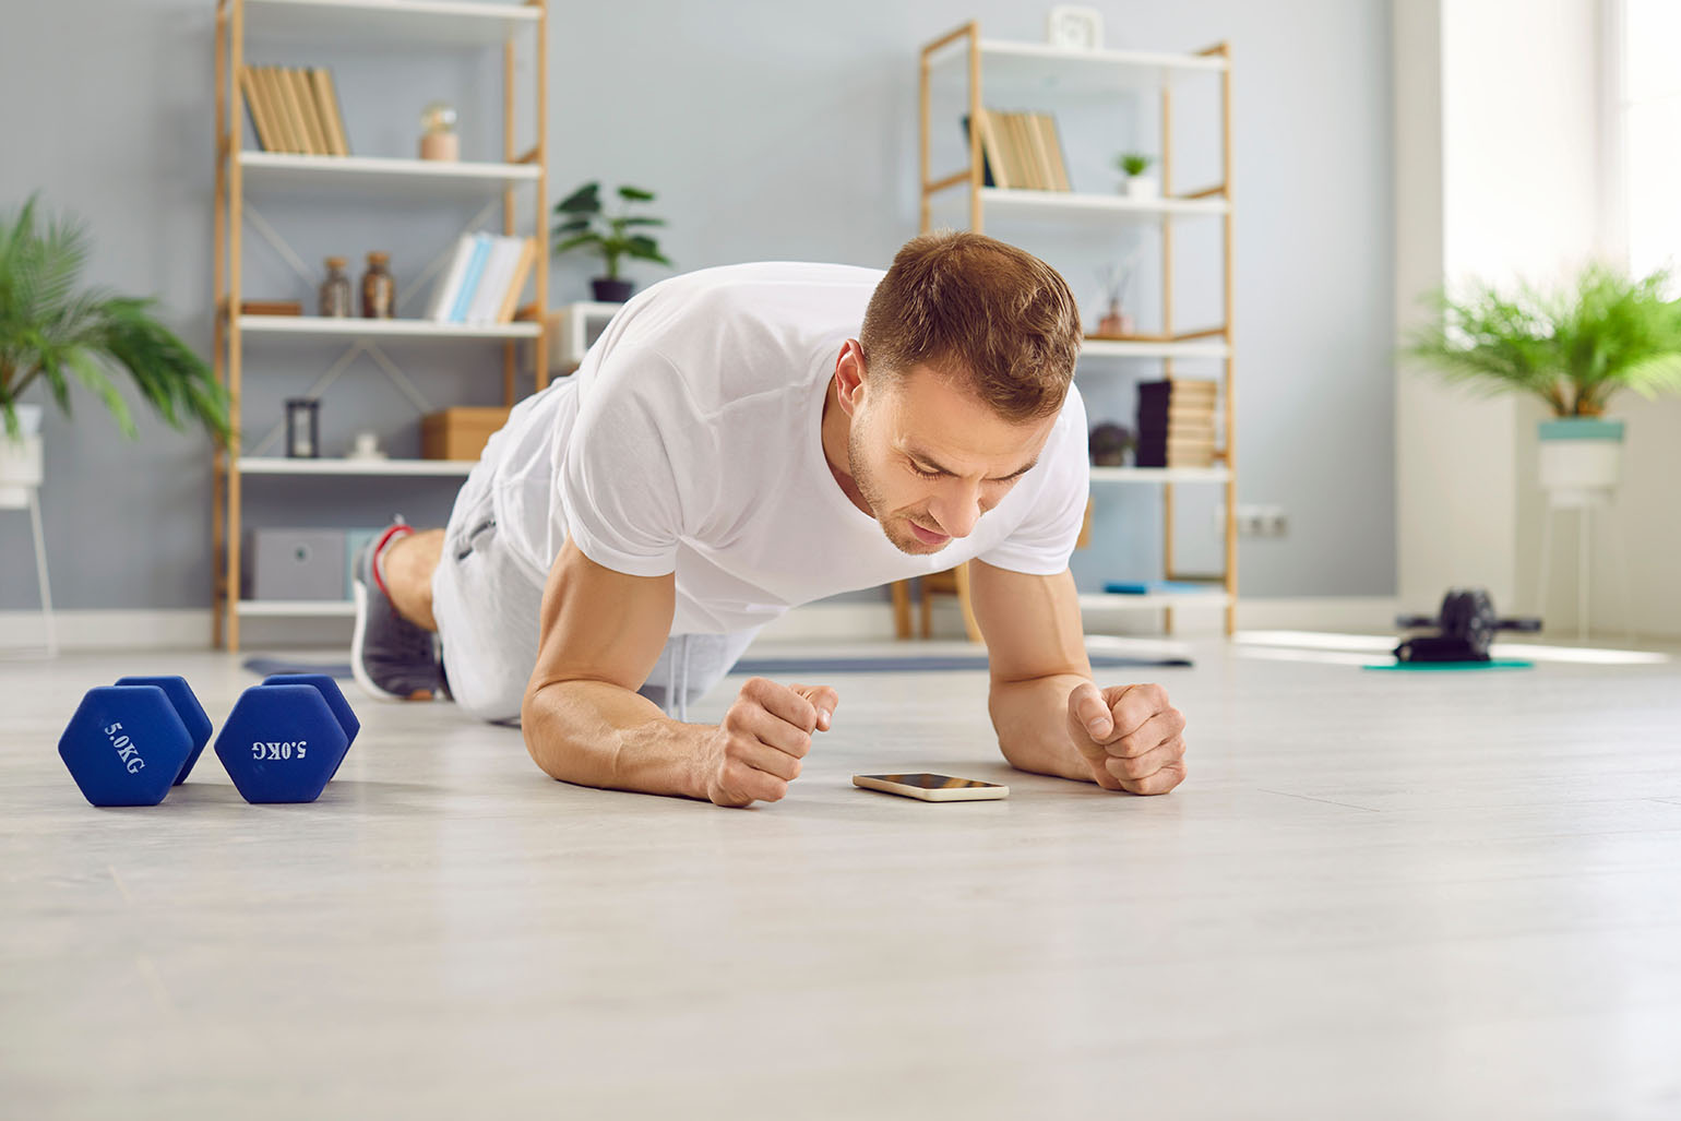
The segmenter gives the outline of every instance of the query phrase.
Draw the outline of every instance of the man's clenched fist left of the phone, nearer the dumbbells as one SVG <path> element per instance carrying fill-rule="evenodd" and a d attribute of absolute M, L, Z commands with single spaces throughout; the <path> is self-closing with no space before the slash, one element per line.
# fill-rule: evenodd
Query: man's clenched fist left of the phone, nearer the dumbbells
<path fill-rule="evenodd" d="M 730 807 L 780 800 L 800 776 L 812 733 L 829 731 L 839 703 L 829 686 L 748 681 L 698 760 L 706 797 Z"/>

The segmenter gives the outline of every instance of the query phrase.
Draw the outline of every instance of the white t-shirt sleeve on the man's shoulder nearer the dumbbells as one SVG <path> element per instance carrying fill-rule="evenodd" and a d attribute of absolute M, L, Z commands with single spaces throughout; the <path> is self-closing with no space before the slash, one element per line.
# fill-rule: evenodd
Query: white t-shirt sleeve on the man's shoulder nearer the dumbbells
<path fill-rule="evenodd" d="M 558 499 L 566 534 L 597 565 L 630 576 L 676 571 L 708 425 L 693 413 L 671 361 L 620 345 L 587 387 L 561 457 Z"/>

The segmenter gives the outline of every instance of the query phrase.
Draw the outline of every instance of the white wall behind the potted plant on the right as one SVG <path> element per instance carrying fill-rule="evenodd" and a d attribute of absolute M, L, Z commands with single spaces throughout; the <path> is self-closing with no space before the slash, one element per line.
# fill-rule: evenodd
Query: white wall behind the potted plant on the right
<path fill-rule="evenodd" d="M 1568 276 L 1605 245 L 1604 13 L 1599 0 L 1415 0 L 1395 5 L 1397 323 L 1442 279 Z M 1676 402 L 1619 398 L 1631 420 L 1629 484 L 1612 523 L 1629 536 L 1639 629 L 1681 634 L 1663 556 L 1681 545 L 1664 439 Z M 1484 585 L 1506 612 L 1575 618 L 1575 524 L 1553 536 L 1552 595 L 1536 568 L 1543 501 L 1528 398 L 1476 400 L 1404 368 L 1395 383 L 1399 587 L 1429 607 L 1451 583 Z M 1602 523 L 1604 524 L 1604 523 Z M 1622 627 L 1607 536 L 1594 555 L 1595 629 Z M 1652 610 L 1657 607 L 1657 610 Z"/>

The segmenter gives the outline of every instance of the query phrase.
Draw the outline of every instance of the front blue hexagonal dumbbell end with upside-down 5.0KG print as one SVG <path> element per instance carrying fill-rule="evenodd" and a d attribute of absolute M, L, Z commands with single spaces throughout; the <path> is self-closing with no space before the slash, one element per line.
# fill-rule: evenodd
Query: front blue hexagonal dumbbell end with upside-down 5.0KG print
<path fill-rule="evenodd" d="M 314 802 L 350 739 L 314 686 L 252 686 L 215 738 L 245 802 Z"/>

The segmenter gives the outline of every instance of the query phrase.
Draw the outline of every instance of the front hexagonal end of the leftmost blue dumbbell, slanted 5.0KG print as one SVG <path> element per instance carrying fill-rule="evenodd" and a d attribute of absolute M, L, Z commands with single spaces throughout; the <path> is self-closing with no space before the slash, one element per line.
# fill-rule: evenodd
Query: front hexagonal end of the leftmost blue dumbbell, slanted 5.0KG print
<path fill-rule="evenodd" d="M 158 686 L 99 686 L 76 706 L 59 758 L 94 805 L 158 805 L 193 738 Z"/>

